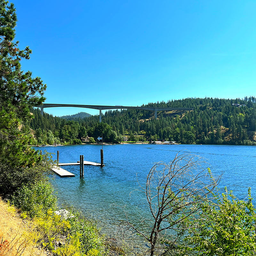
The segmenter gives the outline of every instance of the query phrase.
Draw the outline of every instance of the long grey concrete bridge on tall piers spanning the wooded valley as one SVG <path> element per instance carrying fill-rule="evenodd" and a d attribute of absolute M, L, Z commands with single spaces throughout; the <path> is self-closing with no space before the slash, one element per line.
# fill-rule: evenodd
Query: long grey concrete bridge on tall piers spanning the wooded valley
<path fill-rule="evenodd" d="M 100 123 L 101 123 L 101 110 L 103 109 L 140 109 L 149 110 L 155 112 L 155 119 L 157 118 L 157 111 L 172 111 L 172 110 L 193 110 L 193 108 L 159 108 L 159 107 L 132 107 L 132 106 L 100 106 L 100 105 L 79 105 L 79 104 L 50 104 L 44 103 L 42 105 L 34 106 L 41 109 L 41 115 L 44 114 L 44 108 L 54 108 L 54 107 L 76 107 L 76 108 L 93 108 L 100 110 Z"/>

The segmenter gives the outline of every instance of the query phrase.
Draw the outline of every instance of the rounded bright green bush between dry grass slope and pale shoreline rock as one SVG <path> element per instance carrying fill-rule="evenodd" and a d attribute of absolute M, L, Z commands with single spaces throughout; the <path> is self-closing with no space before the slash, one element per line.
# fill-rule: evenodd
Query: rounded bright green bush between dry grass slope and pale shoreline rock
<path fill-rule="evenodd" d="M 47 181 L 36 182 L 33 186 L 23 185 L 12 196 L 12 204 L 28 217 L 44 216 L 48 209 L 56 208 L 57 198 L 52 185 Z"/>

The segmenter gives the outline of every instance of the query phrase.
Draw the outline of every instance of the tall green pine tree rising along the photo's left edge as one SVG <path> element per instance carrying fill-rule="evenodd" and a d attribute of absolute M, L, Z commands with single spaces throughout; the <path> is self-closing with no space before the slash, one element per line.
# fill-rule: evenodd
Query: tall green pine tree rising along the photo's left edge
<path fill-rule="evenodd" d="M 17 16 L 14 4 L 0 0 L 0 162 L 32 165 L 40 157 L 28 147 L 31 134 L 20 127 L 31 120 L 29 108 L 42 104 L 46 85 L 40 77 L 21 69 L 31 50 L 18 48 L 15 37 Z M 10 161 L 11 160 L 11 161 Z M 1 171 L 1 170 L 0 170 Z"/>

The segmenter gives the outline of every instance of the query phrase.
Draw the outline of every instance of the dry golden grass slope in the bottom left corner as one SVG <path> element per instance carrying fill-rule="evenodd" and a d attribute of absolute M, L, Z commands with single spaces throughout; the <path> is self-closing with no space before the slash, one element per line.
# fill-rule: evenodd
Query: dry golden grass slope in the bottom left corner
<path fill-rule="evenodd" d="M 0 199 L 0 256 L 50 255 L 33 241 L 33 224 Z"/>

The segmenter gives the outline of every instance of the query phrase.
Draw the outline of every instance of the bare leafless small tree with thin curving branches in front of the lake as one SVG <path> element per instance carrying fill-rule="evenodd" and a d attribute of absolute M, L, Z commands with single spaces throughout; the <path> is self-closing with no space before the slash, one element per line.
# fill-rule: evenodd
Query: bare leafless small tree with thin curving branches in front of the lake
<path fill-rule="evenodd" d="M 175 248 L 182 232 L 187 229 L 181 224 L 188 218 L 195 218 L 220 181 L 220 177 L 215 179 L 206 166 L 200 156 L 188 151 L 178 152 L 170 164 L 154 164 L 145 186 L 138 182 L 153 219 L 143 219 L 135 227 L 122 208 L 125 214 L 125 220 L 120 223 L 123 238 L 125 232 L 132 229 L 150 243 L 151 248 L 145 254 L 151 256 L 156 251 L 163 253 L 166 246 Z"/>

